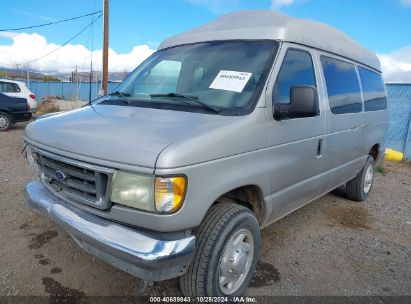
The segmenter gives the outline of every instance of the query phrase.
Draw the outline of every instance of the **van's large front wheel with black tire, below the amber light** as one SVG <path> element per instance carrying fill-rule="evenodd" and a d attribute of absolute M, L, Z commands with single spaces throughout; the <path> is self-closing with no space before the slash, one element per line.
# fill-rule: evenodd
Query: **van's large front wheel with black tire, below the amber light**
<path fill-rule="evenodd" d="M 183 294 L 230 297 L 244 294 L 260 252 L 260 227 L 254 214 L 240 205 L 219 203 L 207 212 L 196 236 L 193 261 L 180 277 Z M 224 274 L 228 275 L 226 279 L 236 282 L 231 289 L 230 284 L 223 282 Z M 230 277 L 233 274 L 238 276 Z"/>

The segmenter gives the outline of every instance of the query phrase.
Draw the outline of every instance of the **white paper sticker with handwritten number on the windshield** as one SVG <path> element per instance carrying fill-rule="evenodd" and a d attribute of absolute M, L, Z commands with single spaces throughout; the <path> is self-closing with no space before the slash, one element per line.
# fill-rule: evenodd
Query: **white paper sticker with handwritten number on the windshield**
<path fill-rule="evenodd" d="M 253 73 L 221 70 L 210 85 L 210 89 L 241 93 Z"/>

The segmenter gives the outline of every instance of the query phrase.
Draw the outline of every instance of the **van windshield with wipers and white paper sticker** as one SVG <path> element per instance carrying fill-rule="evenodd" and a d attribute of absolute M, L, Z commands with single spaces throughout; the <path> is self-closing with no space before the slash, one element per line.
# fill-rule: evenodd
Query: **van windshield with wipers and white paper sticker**
<path fill-rule="evenodd" d="M 249 113 L 278 49 L 275 41 L 220 41 L 154 53 L 101 104 Z"/>

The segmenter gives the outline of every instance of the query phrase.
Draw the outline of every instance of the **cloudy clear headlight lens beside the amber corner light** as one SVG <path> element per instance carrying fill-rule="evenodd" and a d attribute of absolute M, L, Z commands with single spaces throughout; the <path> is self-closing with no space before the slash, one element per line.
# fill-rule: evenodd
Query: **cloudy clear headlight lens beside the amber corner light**
<path fill-rule="evenodd" d="M 111 201 L 146 211 L 154 211 L 154 177 L 116 171 L 111 189 Z"/>

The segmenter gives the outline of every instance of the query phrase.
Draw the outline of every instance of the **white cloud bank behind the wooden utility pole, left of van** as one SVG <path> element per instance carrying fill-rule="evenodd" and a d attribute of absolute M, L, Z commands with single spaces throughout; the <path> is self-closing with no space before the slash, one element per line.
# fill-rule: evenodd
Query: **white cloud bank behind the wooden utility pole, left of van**
<path fill-rule="evenodd" d="M 7 32 L 3 32 L 3 34 L 4 33 Z M 1 67 L 15 68 L 16 64 L 39 58 L 60 47 L 58 44 L 49 43 L 45 37 L 36 33 L 9 35 L 9 38 L 12 38 L 11 44 L 0 45 Z M 120 54 L 110 49 L 109 71 L 131 71 L 153 52 L 154 50 L 148 45 L 136 45 L 129 53 L 125 54 Z M 91 51 L 84 45 L 67 44 L 60 50 L 36 62 L 22 65 L 20 68 L 30 68 L 43 72 L 70 72 L 77 66 L 79 70 L 88 71 L 90 56 Z M 101 62 L 102 51 L 94 51 L 93 65 L 96 70 L 100 69 Z"/>

